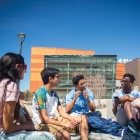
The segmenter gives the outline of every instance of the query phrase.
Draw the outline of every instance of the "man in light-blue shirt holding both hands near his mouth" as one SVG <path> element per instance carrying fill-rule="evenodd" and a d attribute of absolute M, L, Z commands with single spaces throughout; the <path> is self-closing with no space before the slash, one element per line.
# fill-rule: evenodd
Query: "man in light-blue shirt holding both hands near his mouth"
<path fill-rule="evenodd" d="M 77 115 L 95 111 L 94 95 L 85 87 L 84 76 L 76 75 L 72 82 L 75 88 L 66 95 L 66 112 Z"/>

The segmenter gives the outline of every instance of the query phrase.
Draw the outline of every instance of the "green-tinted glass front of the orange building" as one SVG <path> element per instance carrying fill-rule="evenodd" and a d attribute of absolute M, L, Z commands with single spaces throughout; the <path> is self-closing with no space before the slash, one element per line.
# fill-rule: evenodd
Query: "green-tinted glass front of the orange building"
<path fill-rule="evenodd" d="M 97 98 L 111 98 L 115 91 L 116 55 L 46 55 L 45 67 L 60 70 L 60 84 L 55 90 L 64 97 L 73 89 L 74 75 L 85 76 L 86 87 Z"/>

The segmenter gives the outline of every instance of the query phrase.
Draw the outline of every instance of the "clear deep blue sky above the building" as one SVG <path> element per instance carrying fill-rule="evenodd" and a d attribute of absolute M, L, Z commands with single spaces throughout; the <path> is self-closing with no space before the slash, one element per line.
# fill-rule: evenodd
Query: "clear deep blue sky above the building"
<path fill-rule="evenodd" d="M 19 53 L 28 70 L 21 90 L 29 89 L 31 46 L 94 50 L 117 58 L 140 57 L 140 0 L 0 0 L 0 57 Z"/>

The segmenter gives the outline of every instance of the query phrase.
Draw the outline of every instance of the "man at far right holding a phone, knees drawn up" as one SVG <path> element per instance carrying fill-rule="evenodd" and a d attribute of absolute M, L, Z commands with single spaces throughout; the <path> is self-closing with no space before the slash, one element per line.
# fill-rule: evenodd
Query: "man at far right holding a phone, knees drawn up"
<path fill-rule="evenodd" d="M 139 131 L 140 118 L 139 109 L 133 107 L 135 99 L 140 97 L 140 92 L 132 90 L 135 77 L 132 74 L 124 74 L 121 80 L 121 90 L 114 92 L 112 97 L 112 111 L 117 122 L 123 126 L 128 126 L 128 132 Z"/>

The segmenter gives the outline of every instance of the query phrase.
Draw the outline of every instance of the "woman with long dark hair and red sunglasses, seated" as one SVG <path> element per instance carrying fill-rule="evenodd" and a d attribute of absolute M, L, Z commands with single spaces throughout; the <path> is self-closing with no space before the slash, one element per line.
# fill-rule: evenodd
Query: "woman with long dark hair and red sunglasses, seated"
<path fill-rule="evenodd" d="M 35 132 L 28 111 L 21 108 L 18 85 L 24 78 L 26 66 L 23 57 L 15 53 L 7 53 L 0 59 L 0 139 L 55 140 L 49 132 Z M 20 118 L 24 116 L 22 109 L 27 118 Z M 14 123 L 15 120 L 20 120 L 20 125 Z"/>

